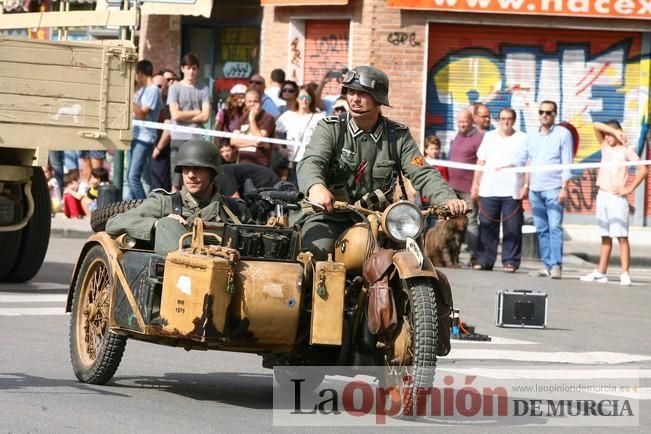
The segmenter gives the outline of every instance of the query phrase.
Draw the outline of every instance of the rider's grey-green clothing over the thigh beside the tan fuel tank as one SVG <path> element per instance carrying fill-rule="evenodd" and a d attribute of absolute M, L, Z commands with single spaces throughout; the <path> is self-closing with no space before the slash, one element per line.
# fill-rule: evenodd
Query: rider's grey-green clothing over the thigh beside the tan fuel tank
<path fill-rule="evenodd" d="M 359 219 L 352 213 L 310 214 L 302 223 L 302 249 L 311 252 L 317 261 L 328 259 L 334 253 L 335 241 L 343 231 Z"/>

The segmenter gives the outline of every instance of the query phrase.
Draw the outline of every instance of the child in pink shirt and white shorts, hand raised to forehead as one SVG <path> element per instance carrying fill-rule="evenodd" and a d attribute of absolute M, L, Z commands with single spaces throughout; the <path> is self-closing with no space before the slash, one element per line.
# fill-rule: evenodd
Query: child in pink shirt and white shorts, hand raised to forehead
<path fill-rule="evenodd" d="M 601 143 L 601 162 L 613 163 L 634 161 L 640 158 L 626 147 L 626 135 L 616 120 L 606 123 L 595 122 L 592 124 L 597 140 Z M 581 277 L 584 282 L 608 282 L 606 271 L 608 259 L 613 246 L 613 238 L 619 242 L 619 252 L 622 263 L 622 274 L 619 282 L 623 286 L 632 284 L 628 274 L 631 259 L 631 246 L 628 242 L 628 199 L 627 196 L 640 185 L 647 175 L 646 166 L 637 166 L 635 179 L 626 186 L 628 167 L 604 166 L 599 169 L 597 176 L 597 226 L 601 235 L 601 250 L 599 255 L 599 268 L 592 273 Z"/>

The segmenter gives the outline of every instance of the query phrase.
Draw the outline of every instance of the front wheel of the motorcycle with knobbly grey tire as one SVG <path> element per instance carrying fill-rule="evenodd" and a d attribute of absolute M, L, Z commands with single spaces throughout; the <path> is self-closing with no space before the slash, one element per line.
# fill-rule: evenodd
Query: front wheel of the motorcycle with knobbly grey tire
<path fill-rule="evenodd" d="M 427 390 L 436 370 L 437 313 L 426 279 L 410 279 L 400 329 L 391 356 L 385 357 L 386 385 L 400 393 L 399 416 L 424 414 Z"/>

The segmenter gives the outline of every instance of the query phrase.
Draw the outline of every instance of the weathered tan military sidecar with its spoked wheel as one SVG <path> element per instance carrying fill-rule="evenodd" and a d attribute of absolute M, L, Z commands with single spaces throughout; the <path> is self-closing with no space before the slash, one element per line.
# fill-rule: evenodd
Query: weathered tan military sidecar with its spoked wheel
<path fill-rule="evenodd" d="M 216 235 L 218 234 L 218 235 Z M 92 235 L 75 266 L 66 311 L 80 381 L 103 384 L 118 368 L 127 339 L 186 350 L 290 353 L 297 341 L 309 254 L 293 228 L 226 225 L 190 246 L 159 256 L 134 240 Z M 219 239 L 219 245 L 208 244 Z M 185 241 L 181 239 L 180 245 Z M 307 255 L 307 256 L 306 256 Z M 328 297 L 313 306 L 312 343 L 340 344 L 343 264 L 316 263 Z M 327 324 L 327 326 L 326 326 Z"/>

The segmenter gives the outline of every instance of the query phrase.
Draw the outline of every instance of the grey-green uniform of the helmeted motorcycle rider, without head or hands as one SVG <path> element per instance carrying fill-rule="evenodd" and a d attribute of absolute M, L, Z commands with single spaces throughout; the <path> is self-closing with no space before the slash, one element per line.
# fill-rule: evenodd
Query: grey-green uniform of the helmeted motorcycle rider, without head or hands
<path fill-rule="evenodd" d="M 389 149 L 389 134 L 392 134 L 402 172 L 421 196 L 427 197 L 431 204 L 457 198 L 438 170 L 425 162 L 406 126 L 380 116 L 375 128 L 366 133 L 350 115 L 346 125 L 343 148 L 336 156 L 339 118 L 330 116 L 317 124 L 298 164 L 299 189 L 306 196 L 315 184 L 325 185 L 336 200 L 347 202 L 355 202 L 377 189 L 386 192 L 394 188 L 397 164 L 391 159 Z M 338 179 L 331 179 L 333 164 L 339 165 Z M 303 246 L 315 257 L 325 259 L 332 252 L 338 234 L 351 223 L 350 216 L 341 214 L 310 216 L 303 225 Z"/>

